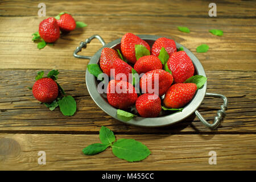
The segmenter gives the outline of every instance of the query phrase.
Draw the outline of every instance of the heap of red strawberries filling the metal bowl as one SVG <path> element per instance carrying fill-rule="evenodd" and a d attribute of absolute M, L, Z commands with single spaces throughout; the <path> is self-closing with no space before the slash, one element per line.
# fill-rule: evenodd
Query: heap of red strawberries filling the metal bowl
<path fill-rule="evenodd" d="M 148 50 L 149 54 L 138 59 L 135 50 L 137 45 L 142 45 L 144 52 Z M 166 65 L 163 65 L 159 59 L 162 48 L 169 56 Z M 115 71 L 116 80 L 110 80 L 107 88 L 107 99 L 110 105 L 126 110 L 135 104 L 142 117 L 158 117 L 162 109 L 160 96 L 165 94 L 163 103 L 170 108 L 180 108 L 192 99 L 197 90 L 196 84 L 184 84 L 183 82 L 193 76 L 195 69 L 184 51 L 177 52 L 174 40 L 159 38 L 150 49 L 147 42 L 134 34 L 127 33 L 121 39 L 121 51 L 130 64 L 120 59 L 118 52 L 112 48 L 103 48 L 101 52 L 100 68 L 102 71 L 108 76 L 111 76 L 111 69 Z M 138 74 L 144 73 L 139 81 L 144 94 L 139 97 L 130 82 L 117 78 L 118 73 L 123 73 L 126 80 L 129 80 L 129 74 L 133 68 L 131 65 L 134 65 Z M 163 69 L 164 67 L 168 67 L 167 71 Z M 158 93 L 151 93 L 148 90 L 148 84 L 151 86 L 149 88 L 154 90 L 155 81 L 158 81 Z M 172 85 L 173 82 L 174 85 Z M 116 88 L 121 88 L 122 92 L 117 92 Z"/>

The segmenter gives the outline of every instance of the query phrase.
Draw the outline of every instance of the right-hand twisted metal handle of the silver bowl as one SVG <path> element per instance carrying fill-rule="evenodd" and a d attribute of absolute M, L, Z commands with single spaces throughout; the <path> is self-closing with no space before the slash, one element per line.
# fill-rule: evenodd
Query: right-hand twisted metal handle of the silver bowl
<path fill-rule="evenodd" d="M 223 105 L 221 105 L 221 110 L 217 111 L 217 116 L 214 118 L 214 122 L 210 124 L 207 122 L 204 117 L 199 113 L 198 110 L 195 111 L 196 116 L 200 119 L 201 122 L 204 123 L 205 126 L 207 126 L 209 129 L 213 130 L 216 129 L 216 127 L 220 124 L 221 119 L 225 116 L 225 111 L 228 109 L 228 99 L 221 95 L 221 94 L 216 94 L 216 93 L 206 93 L 205 96 L 209 97 L 219 97 L 222 98 L 223 100 Z"/>

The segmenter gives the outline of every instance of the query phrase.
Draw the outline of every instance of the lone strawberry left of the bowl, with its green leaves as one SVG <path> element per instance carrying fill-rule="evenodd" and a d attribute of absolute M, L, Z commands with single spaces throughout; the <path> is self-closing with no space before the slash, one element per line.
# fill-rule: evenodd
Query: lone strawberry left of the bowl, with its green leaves
<path fill-rule="evenodd" d="M 32 93 L 36 100 L 46 105 L 50 110 L 60 106 L 63 115 L 73 115 L 76 112 L 76 101 L 72 96 L 67 96 L 63 88 L 56 82 L 59 71 L 53 69 L 44 76 L 44 71 L 38 72 Z"/>

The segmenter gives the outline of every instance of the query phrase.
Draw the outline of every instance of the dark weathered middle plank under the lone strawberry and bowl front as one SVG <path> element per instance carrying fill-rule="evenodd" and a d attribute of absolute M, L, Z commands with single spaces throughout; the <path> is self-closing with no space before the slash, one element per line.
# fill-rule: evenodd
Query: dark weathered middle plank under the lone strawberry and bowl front
<path fill-rule="evenodd" d="M 118 133 L 184 133 L 210 131 L 195 117 L 174 126 L 157 129 L 126 125 L 102 111 L 90 98 L 85 85 L 84 71 L 60 71 L 58 82 L 77 101 L 77 112 L 65 117 L 57 108 L 48 110 L 32 96 L 27 86 L 34 84 L 36 70 L 5 70 L 0 72 L 0 130 L 26 132 L 84 132 L 94 133 L 102 125 Z M 47 73 L 48 71 L 45 70 Z M 228 111 L 221 126 L 214 133 L 253 132 L 256 125 L 255 72 L 208 71 L 209 93 L 228 97 Z M 199 111 L 213 121 L 222 100 L 205 98 Z"/>

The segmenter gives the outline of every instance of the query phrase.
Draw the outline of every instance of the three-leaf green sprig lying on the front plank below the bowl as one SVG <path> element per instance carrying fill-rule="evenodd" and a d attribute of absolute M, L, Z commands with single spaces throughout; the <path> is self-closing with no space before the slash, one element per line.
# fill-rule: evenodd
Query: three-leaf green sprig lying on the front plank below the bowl
<path fill-rule="evenodd" d="M 106 131 L 108 134 L 106 134 Z M 112 139 L 109 140 L 109 136 L 112 135 Z M 93 143 L 85 147 L 82 152 L 85 155 L 98 154 L 109 146 L 112 147 L 112 152 L 119 159 L 127 160 L 128 162 L 136 162 L 147 158 L 151 154 L 151 151 L 142 144 L 134 139 L 118 139 L 115 141 L 114 133 L 105 126 L 101 126 L 100 140 L 105 143 Z"/>

